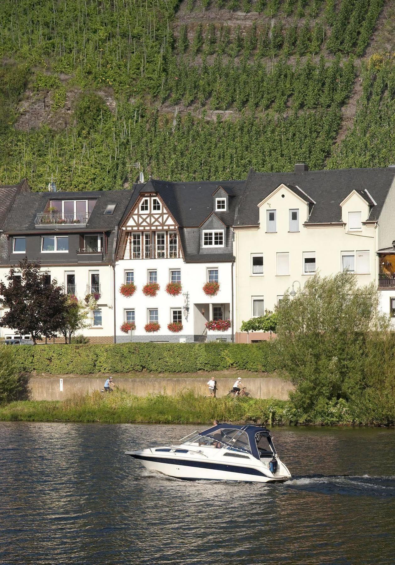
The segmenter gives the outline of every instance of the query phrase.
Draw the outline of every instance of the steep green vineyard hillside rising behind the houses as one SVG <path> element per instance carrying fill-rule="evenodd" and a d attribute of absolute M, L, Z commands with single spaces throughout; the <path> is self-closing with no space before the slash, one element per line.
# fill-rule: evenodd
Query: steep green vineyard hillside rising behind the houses
<path fill-rule="evenodd" d="M 393 0 L 3 0 L 0 184 L 395 162 Z"/>

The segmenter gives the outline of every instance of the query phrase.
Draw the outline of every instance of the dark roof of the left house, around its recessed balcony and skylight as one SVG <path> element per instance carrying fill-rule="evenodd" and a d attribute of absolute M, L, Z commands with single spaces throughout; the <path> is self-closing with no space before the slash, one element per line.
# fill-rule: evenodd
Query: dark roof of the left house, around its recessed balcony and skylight
<path fill-rule="evenodd" d="M 110 231 L 114 229 L 124 214 L 132 191 L 131 190 L 86 190 L 85 192 L 29 192 L 18 194 L 8 213 L 7 219 L 3 225 L 3 231 L 7 233 L 40 233 L 47 232 L 48 229 L 36 228 L 34 220 L 38 213 L 43 212 L 46 203 L 51 200 L 67 200 L 67 199 L 95 199 L 92 213 L 86 226 L 81 226 L 79 232 L 92 231 Z M 116 203 L 114 214 L 103 215 L 107 204 Z M 66 231 L 67 228 L 61 228 Z"/>

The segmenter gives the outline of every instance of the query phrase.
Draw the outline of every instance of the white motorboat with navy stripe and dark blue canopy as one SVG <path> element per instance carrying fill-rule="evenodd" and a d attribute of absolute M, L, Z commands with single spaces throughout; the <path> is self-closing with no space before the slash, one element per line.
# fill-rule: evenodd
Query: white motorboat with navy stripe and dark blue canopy
<path fill-rule="evenodd" d="M 149 470 L 184 480 L 284 482 L 291 478 L 272 435 L 257 425 L 218 424 L 193 432 L 179 445 L 125 451 Z"/>

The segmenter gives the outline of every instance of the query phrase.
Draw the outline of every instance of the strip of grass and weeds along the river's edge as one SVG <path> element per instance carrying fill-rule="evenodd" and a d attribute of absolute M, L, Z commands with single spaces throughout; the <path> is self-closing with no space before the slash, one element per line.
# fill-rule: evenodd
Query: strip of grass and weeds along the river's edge
<path fill-rule="evenodd" d="M 262 424 L 392 425 L 375 415 L 358 415 L 344 403 L 327 406 L 323 414 L 306 416 L 290 401 L 256 398 L 207 398 L 190 391 L 136 397 L 123 390 L 94 392 L 65 401 L 17 401 L 0 406 L 0 421 L 73 421 L 102 423 L 196 423 L 214 418 Z"/>

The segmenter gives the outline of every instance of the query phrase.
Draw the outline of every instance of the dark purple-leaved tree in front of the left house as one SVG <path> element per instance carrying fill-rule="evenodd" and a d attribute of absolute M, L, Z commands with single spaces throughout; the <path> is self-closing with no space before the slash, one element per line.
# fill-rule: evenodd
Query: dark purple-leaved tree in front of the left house
<path fill-rule="evenodd" d="M 6 280 L 0 282 L 0 302 L 9 310 L 2 316 L 2 327 L 30 334 L 36 344 L 42 336 L 59 331 L 67 314 L 67 296 L 56 280 L 47 283 L 40 263 L 24 259 L 20 273 L 10 269 Z"/>

